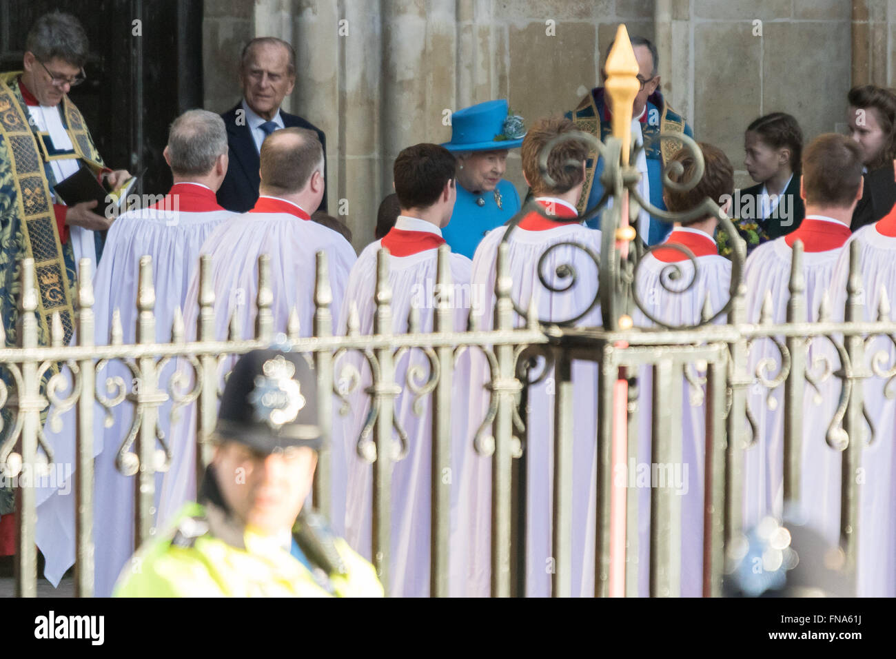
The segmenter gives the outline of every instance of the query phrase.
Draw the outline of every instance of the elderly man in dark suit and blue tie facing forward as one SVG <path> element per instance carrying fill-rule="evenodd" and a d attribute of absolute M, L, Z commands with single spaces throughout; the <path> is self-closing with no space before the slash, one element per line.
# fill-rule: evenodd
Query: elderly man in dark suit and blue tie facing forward
<path fill-rule="evenodd" d="M 326 158 L 323 131 L 311 123 L 280 110 L 284 97 L 296 83 L 296 51 L 274 37 L 252 39 L 243 48 L 239 79 L 243 100 L 221 117 L 227 126 L 230 167 L 218 190 L 218 203 L 233 212 L 246 212 L 258 199 L 259 152 L 264 138 L 279 128 L 310 128 L 317 133 Z M 327 210 L 326 161 L 320 210 Z"/>

